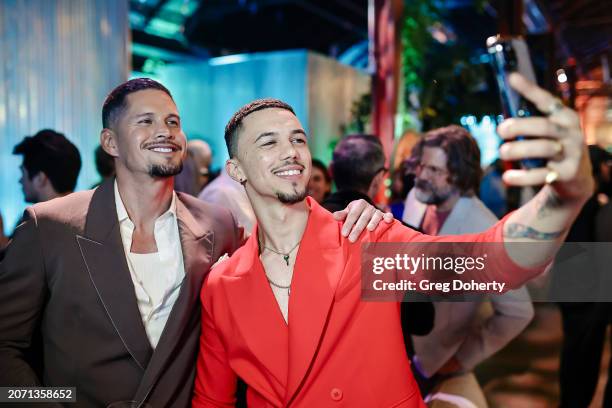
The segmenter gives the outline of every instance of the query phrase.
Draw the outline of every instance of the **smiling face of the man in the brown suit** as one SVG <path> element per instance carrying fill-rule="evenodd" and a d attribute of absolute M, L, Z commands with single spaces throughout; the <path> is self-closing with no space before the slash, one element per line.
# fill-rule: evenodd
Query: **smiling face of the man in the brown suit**
<path fill-rule="evenodd" d="M 172 98 L 146 89 L 129 94 L 126 105 L 112 131 L 102 136 L 105 150 L 117 158 L 118 176 L 129 172 L 165 178 L 180 173 L 186 139 Z"/>

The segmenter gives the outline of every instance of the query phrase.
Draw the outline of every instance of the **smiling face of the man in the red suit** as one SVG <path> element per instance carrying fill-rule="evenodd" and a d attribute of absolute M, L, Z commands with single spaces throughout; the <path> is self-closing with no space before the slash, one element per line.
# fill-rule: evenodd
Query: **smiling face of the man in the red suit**
<path fill-rule="evenodd" d="M 243 180 L 251 199 L 269 197 L 285 204 L 304 200 L 311 157 L 297 117 L 279 108 L 248 115 L 238 130 L 237 154 L 228 172 Z"/>

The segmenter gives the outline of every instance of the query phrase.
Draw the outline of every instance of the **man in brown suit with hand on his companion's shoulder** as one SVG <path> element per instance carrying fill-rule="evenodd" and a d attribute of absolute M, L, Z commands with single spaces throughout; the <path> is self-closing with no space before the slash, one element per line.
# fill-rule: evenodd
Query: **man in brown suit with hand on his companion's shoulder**
<path fill-rule="evenodd" d="M 0 264 L 0 386 L 73 386 L 79 407 L 187 407 L 202 281 L 240 230 L 174 192 L 186 140 L 165 87 L 120 85 L 102 119 L 116 179 L 28 208 Z M 347 229 L 381 220 L 364 204 Z"/>

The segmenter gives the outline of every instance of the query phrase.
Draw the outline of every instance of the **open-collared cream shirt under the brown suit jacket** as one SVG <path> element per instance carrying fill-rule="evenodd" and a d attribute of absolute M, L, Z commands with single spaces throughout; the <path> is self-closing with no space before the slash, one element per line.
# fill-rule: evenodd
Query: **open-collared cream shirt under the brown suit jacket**
<path fill-rule="evenodd" d="M 130 251 L 134 224 L 123 205 L 116 181 L 115 206 L 138 309 L 147 337 L 151 346 L 155 348 L 185 278 L 183 251 L 176 218 L 176 193 L 172 193 L 172 202 L 168 211 L 155 220 L 154 235 L 158 252 L 151 254 L 134 254 Z"/>

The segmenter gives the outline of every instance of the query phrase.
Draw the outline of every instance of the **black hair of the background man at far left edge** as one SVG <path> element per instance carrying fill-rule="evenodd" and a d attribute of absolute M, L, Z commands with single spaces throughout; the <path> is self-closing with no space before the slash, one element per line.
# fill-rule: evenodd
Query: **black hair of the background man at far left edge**
<path fill-rule="evenodd" d="M 74 191 L 81 171 L 81 155 L 63 134 L 43 129 L 34 136 L 26 136 L 15 146 L 13 154 L 23 155 L 23 167 L 30 180 L 43 172 L 59 194 Z"/>

